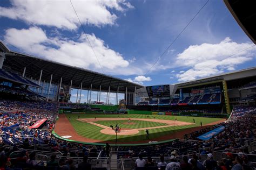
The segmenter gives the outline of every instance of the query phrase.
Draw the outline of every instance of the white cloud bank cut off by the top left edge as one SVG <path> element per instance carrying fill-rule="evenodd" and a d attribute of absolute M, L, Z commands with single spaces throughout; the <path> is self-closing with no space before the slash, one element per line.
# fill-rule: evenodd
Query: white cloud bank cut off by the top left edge
<path fill-rule="evenodd" d="M 133 6 L 125 0 L 78 1 L 72 0 L 82 24 L 113 25 L 117 19 L 110 10 L 124 12 Z M 97 12 L 96 12 L 97 11 Z M 77 29 L 79 21 L 70 1 L 11 0 L 11 7 L 0 7 L 0 17 L 23 20 L 33 25 L 55 26 L 69 30 Z"/>

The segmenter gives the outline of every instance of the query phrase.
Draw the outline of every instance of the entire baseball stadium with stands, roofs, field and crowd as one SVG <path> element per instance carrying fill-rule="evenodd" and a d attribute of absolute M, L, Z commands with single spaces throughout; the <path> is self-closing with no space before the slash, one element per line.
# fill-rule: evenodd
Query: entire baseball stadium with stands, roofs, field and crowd
<path fill-rule="evenodd" d="M 256 44 L 253 5 L 224 3 Z M 255 114 L 256 67 L 143 86 L 0 41 L 1 169 L 254 169 Z"/>

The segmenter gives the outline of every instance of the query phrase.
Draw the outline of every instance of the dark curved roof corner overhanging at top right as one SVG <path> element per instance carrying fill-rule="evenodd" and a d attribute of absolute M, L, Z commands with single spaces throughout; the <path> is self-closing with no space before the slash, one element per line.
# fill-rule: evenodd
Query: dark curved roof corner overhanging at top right
<path fill-rule="evenodd" d="M 242 30 L 256 44 L 255 1 L 224 0 L 224 2 Z"/>

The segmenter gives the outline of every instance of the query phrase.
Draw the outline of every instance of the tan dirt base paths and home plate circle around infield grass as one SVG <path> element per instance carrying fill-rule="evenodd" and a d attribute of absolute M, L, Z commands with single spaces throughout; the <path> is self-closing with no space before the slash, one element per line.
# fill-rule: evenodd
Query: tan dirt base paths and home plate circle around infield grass
<path fill-rule="evenodd" d="M 101 133 L 104 134 L 110 134 L 110 135 L 131 135 L 131 134 L 137 134 L 140 130 L 146 130 L 146 129 L 157 129 L 157 128 L 167 128 L 170 126 L 185 126 L 185 125 L 191 125 L 193 123 L 188 122 L 180 122 L 180 121 L 170 121 L 170 120 L 163 120 L 163 119 L 143 119 L 143 118 L 130 118 L 131 121 L 146 121 L 146 122 L 158 122 L 158 123 L 165 123 L 167 125 L 164 126 L 155 126 L 155 127 L 149 127 L 149 128 L 139 128 L 139 129 L 130 129 L 130 130 L 122 130 L 118 133 L 115 132 L 115 130 L 111 129 L 110 127 L 95 123 L 97 121 L 119 121 L 119 120 L 127 120 L 127 118 L 83 118 L 83 119 L 77 119 L 78 121 L 87 122 L 96 126 L 99 126 L 101 128 L 104 128 L 100 130 Z"/>

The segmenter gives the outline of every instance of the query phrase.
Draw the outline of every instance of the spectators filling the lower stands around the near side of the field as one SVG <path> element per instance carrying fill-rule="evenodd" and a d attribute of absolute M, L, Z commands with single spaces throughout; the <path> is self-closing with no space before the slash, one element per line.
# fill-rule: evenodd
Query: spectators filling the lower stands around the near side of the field
<path fill-rule="evenodd" d="M 236 109 L 237 107 L 235 107 Z M 239 108 L 239 107 L 238 107 Z M 234 109 L 234 110 L 235 110 Z M 247 108 L 249 109 L 249 108 Z M 243 107 L 243 111 L 246 111 Z M 202 128 L 187 134 L 186 139 L 170 143 L 118 148 L 117 158 L 135 158 L 135 169 L 253 169 L 252 157 L 241 146 L 246 140 L 254 141 L 256 121 L 254 109 L 244 116 L 231 118 L 225 123 Z M 241 111 L 241 107 L 240 107 Z M 57 118 L 57 104 L 46 102 L 0 101 L 1 138 L 0 167 L 45 169 L 85 169 L 92 167 L 89 158 L 109 156 L 110 146 L 90 146 L 69 143 L 52 136 L 51 130 Z M 234 117 L 240 115 L 234 115 Z M 39 119 L 48 120 L 38 129 L 30 129 Z M 223 125 L 223 132 L 211 140 L 200 141 L 197 137 Z M 42 161 L 39 153 L 48 153 Z M 198 153 L 199 154 L 196 154 Z M 226 151 L 226 161 L 216 161 L 213 152 Z M 247 152 L 248 153 L 248 152 Z M 253 154 L 254 151 L 252 151 Z M 83 158 L 82 159 L 77 159 Z M 144 158 L 147 158 L 146 160 Z M 160 158 L 159 160 L 155 157 Z M 138 159 L 137 159 L 138 158 Z M 255 157 L 254 157 L 255 158 Z M 255 160 L 254 160 L 255 161 Z M 94 166 L 94 165 L 93 165 Z M 152 168 L 150 168 L 152 167 Z"/>

